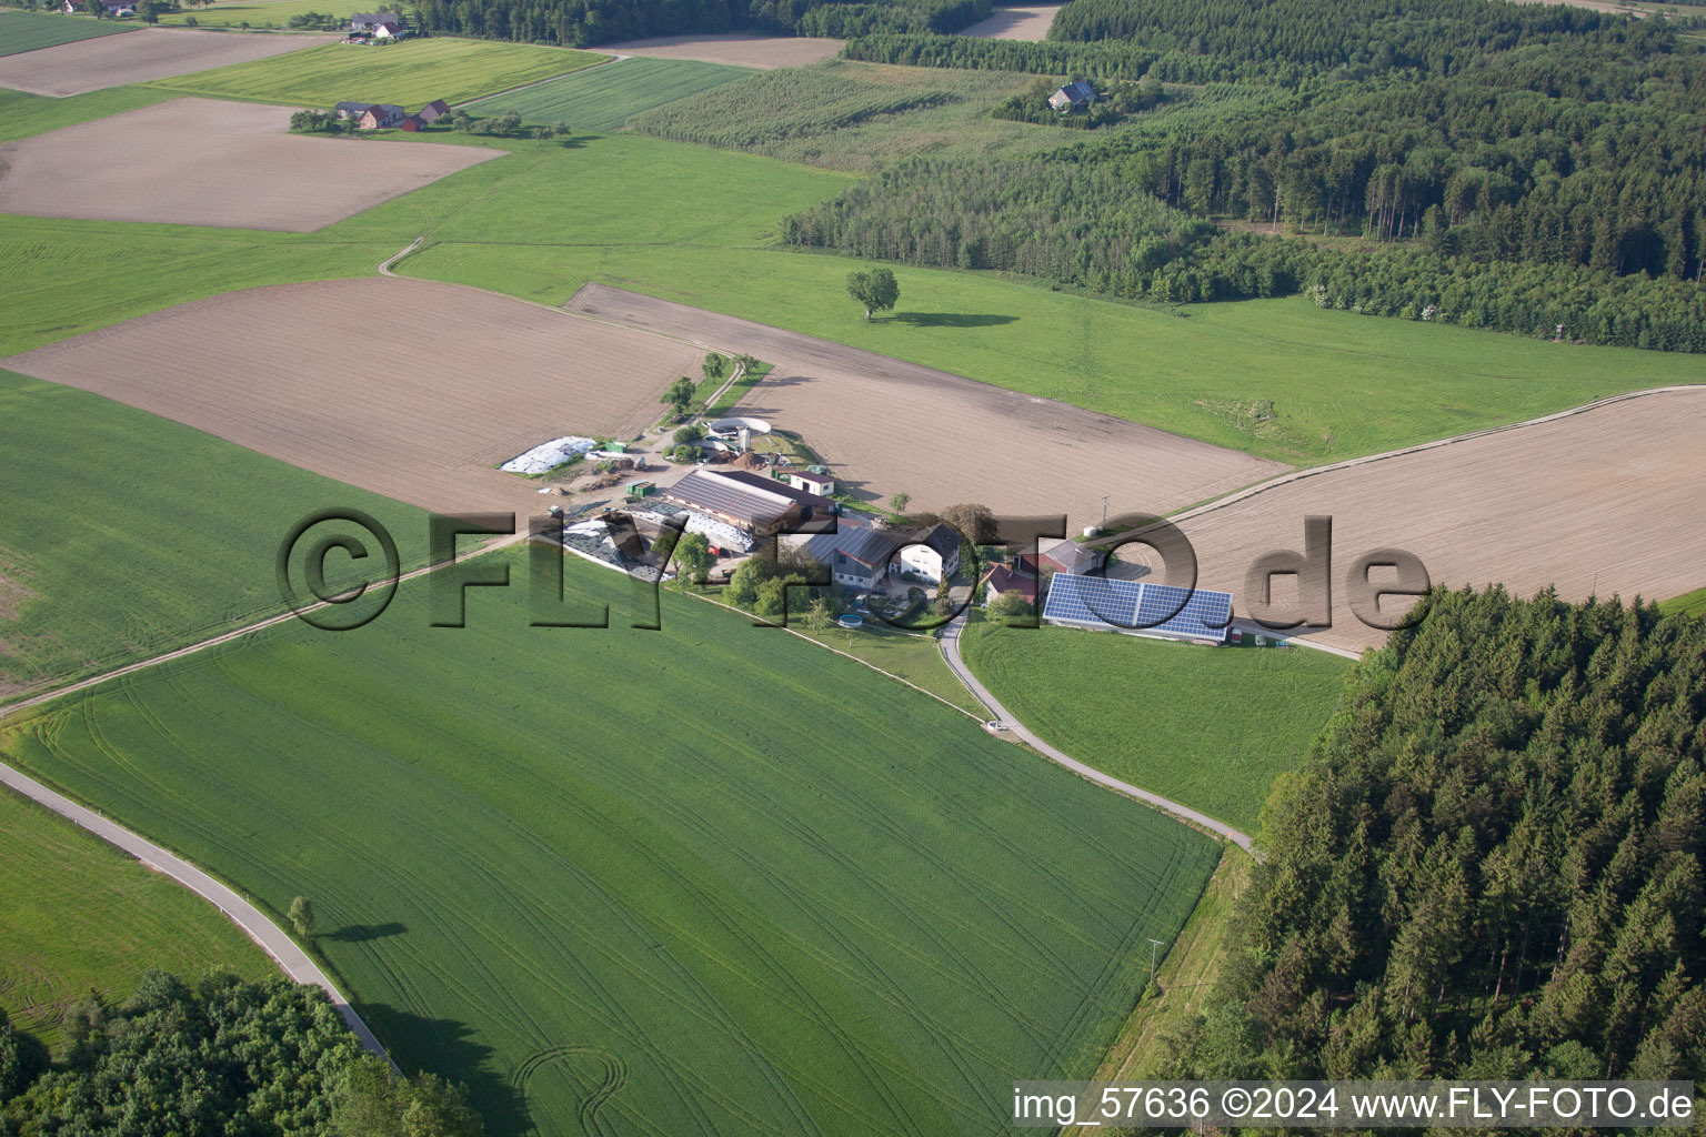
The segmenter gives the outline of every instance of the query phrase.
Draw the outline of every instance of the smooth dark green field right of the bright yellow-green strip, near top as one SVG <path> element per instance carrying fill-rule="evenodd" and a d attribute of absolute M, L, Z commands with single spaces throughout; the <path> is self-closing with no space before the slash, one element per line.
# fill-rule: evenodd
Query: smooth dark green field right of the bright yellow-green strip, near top
<path fill-rule="evenodd" d="M 633 56 L 585 75 L 565 75 L 510 95 L 481 99 L 471 104 L 467 113 L 496 114 L 514 107 L 527 123 L 544 126 L 568 123 L 577 130 L 609 133 L 621 130 L 630 118 L 641 111 L 711 87 L 722 87 L 747 75 L 752 72 L 744 66 Z"/>

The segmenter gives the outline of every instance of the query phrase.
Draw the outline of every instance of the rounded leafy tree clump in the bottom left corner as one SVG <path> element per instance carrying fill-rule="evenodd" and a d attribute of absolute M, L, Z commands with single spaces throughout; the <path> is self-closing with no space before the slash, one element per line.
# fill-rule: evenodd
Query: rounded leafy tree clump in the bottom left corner
<path fill-rule="evenodd" d="M 70 1050 L 0 1014 L 0 1137 L 479 1137 L 462 1091 L 392 1077 L 314 987 L 215 973 L 143 975 L 107 1007 L 65 1014 Z"/>

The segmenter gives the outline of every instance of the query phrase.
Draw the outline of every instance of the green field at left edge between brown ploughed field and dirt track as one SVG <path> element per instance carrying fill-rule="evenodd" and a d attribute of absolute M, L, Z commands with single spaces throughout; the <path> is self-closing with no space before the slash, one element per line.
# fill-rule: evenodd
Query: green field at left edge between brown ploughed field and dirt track
<path fill-rule="evenodd" d="M 421 561 L 425 513 L 70 387 L 0 372 L 0 697 L 283 610 L 275 557 L 355 506 Z"/>

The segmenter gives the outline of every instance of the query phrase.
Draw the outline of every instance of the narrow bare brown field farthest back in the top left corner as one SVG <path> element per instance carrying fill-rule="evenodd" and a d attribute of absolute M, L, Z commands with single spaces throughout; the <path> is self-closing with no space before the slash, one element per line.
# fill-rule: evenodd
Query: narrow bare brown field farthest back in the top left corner
<path fill-rule="evenodd" d="M 338 43 L 338 36 L 145 27 L 128 36 L 101 36 L 0 56 L 0 87 L 63 99 L 227 63 L 266 60 L 322 43 Z"/>

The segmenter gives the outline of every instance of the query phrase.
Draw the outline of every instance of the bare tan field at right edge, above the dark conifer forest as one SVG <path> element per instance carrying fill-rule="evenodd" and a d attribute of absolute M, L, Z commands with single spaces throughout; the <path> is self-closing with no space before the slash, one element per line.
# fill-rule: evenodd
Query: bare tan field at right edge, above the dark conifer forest
<path fill-rule="evenodd" d="M 1384 643 L 1346 603 L 1353 561 L 1397 547 L 1436 583 L 1556 585 L 1564 600 L 1699 585 L 1706 561 L 1706 389 L 1566 413 L 1387 459 L 1324 469 L 1181 518 L 1199 583 L 1235 595 L 1271 549 L 1303 547 L 1303 518 L 1332 518 L 1332 627 L 1310 639 L 1353 651 Z M 1380 576 L 1375 578 L 1377 581 Z M 1281 586 L 1281 581 L 1286 581 Z M 1274 598 L 1295 595 L 1276 578 Z"/>

